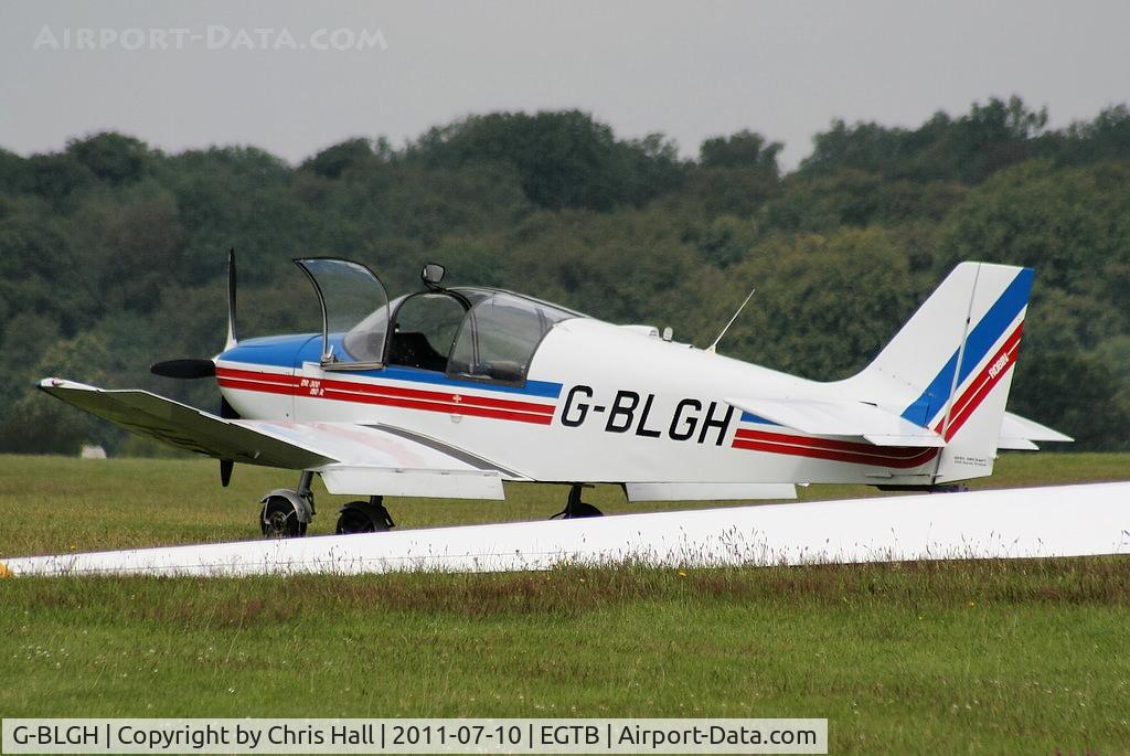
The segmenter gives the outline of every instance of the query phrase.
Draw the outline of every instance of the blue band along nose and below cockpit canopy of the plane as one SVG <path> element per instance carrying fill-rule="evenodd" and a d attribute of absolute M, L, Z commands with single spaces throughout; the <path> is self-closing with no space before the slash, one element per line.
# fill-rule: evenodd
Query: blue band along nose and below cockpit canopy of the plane
<path fill-rule="evenodd" d="M 334 353 L 341 354 L 340 334 L 331 334 L 330 344 Z M 290 336 L 269 336 L 259 339 L 241 341 L 224 354 L 219 359 L 250 365 L 262 365 L 279 368 L 299 368 L 304 362 L 316 363 L 321 358 L 322 337 L 319 333 L 297 333 Z M 521 394 L 525 397 L 544 397 L 557 399 L 560 397 L 562 384 L 551 381 L 527 381 L 525 385 L 504 385 L 487 381 L 469 381 L 453 379 L 416 367 L 389 366 L 375 371 L 341 371 L 340 375 L 359 375 L 370 379 L 388 381 L 409 381 L 412 383 L 429 383 L 453 389 L 493 391 L 498 393 Z"/>

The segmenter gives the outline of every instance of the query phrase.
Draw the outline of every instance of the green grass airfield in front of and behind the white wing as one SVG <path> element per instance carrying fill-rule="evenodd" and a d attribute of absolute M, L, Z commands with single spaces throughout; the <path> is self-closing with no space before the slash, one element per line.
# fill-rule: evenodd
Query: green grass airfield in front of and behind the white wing
<path fill-rule="evenodd" d="M 5 556 L 247 538 L 258 497 L 293 485 L 241 467 L 221 489 L 194 460 L 0 464 Z M 983 485 L 1128 472 L 1130 455 L 1008 455 Z M 510 494 L 390 509 L 401 527 L 542 519 L 564 489 Z M 644 509 L 610 487 L 588 499 Z M 1113 557 L 14 579 L 0 715 L 826 716 L 832 753 L 1130 753 L 1128 605 Z"/>

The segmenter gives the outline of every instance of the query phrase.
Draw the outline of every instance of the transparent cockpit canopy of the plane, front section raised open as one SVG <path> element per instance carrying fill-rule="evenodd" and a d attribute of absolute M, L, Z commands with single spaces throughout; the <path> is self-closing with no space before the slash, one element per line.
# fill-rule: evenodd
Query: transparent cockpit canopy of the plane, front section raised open
<path fill-rule="evenodd" d="M 483 287 L 434 288 L 389 302 L 380 279 L 360 263 L 329 258 L 295 262 L 314 284 L 322 305 L 327 370 L 401 366 L 521 383 L 549 329 L 584 316 Z"/>

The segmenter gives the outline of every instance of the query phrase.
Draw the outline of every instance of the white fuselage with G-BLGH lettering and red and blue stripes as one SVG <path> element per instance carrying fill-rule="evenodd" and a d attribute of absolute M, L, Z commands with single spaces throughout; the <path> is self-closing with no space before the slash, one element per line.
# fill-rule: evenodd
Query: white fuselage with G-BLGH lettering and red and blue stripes
<path fill-rule="evenodd" d="M 473 449 L 512 480 L 914 485 L 935 468 L 935 450 L 807 436 L 727 401 L 842 397 L 840 384 L 592 319 L 556 324 L 513 384 L 324 370 L 320 347 L 320 334 L 240 344 L 217 358 L 224 396 L 245 418 L 380 425 Z"/>

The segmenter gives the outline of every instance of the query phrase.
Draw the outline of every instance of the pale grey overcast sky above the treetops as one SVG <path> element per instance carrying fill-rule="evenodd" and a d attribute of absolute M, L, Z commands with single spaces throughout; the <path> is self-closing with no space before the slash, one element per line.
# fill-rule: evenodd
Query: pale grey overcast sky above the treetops
<path fill-rule="evenodd" d="M 0 146 L 114 129 L 299 162 L 469 113 L 579 107 L 688 156 L 751 129 L 791 167 L 833 118 L 918 125 L 1018 94 L 1053 125 L 1090 119 L 1130 101 L 1128 31 L 1127 0 L 0 0 Z M 350 40 L 364 49 L 334 49 Z"/>

